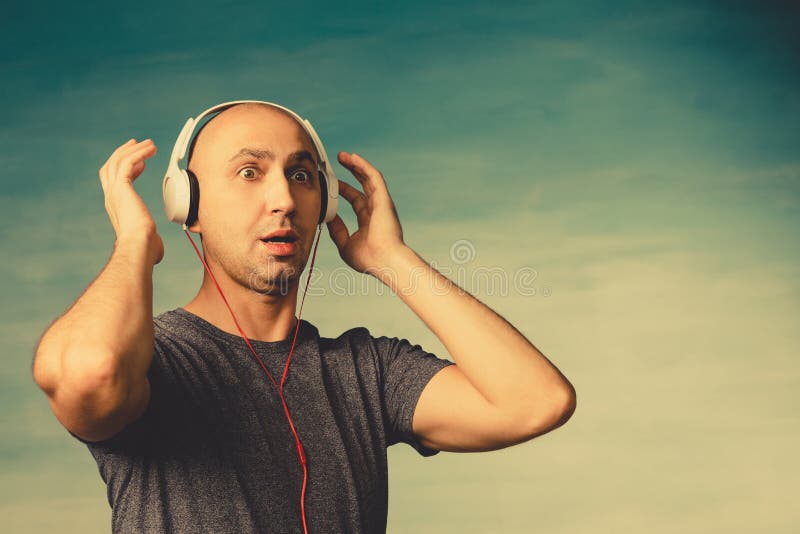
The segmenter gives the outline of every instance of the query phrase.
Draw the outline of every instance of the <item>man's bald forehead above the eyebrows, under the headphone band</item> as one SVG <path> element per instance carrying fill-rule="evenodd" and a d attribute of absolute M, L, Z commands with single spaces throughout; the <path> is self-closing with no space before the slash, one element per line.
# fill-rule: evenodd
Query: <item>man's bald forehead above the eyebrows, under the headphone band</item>
<path fill-rule="evenodd" d="M 197 136 L 198 159 L 224 164 L 243 148 L 273 152 L 277 157 L 307 149 L 313 143 L 297 121 L 263 106 L 236 106 L 213 117 Z"/>

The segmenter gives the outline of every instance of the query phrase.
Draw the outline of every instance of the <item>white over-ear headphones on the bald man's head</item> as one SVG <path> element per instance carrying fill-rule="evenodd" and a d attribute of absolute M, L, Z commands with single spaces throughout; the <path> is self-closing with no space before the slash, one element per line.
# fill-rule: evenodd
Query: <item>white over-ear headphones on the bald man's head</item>
<path fill-rule="evenodd" d="M 333 172 L 333 166 L 330 160 L 328 160 L 328 154 L 325 152 L 325 147 L 322 146 L 322 141 L 320 141 L 317 136 L 317 132 L 314 131 L 314 127 L 311 126 L 309 121 L 301 118 L 294 111 L 279 106 L 278 104 L 261 100 L 235 100 L 232 102 L 225 102 L 205 110 L 194 119 L 189 117 L 180 135 L 178 135 L 178 139 L 175 141 L 175 146 L 172 149 L 172 155 L 169 157 L 167 173 L 164 176 L 164 183 L 162 185 L 164 210 L 167 213 L 167 218 L 172 222 L 183 225 L 184 228 L 191 226 L 197 220 L 197 208 L 200 202 L 200 187 L 197 183 L 197 177 L 189 169 L 182 169 L 179 166 L 179 162 L 186 155 L 189 141 L 200 121 L 211 113 L 223 111 L 237 104 L 267 104 L 286 111 L 294 117 L 298 124 L 308 133 L 320 157 L 319 184 L 322 203 L 320 205 L 320 214 L 317 224 L 332 221 L 336 216 L 339 198 L 339 180 Z"/>

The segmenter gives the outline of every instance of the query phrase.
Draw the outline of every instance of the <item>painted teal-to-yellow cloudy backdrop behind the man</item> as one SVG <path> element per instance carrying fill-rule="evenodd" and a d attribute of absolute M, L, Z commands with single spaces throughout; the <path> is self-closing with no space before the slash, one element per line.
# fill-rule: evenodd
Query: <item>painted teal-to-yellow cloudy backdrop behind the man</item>
<path fill-rule="evenodd" d="M 796 2 L 3 11 L 3 532 L 110 530 L 96 464 L 35 386 L 33 350 L 110 255 L 97 171 L 130 137 L 159 148 L 136 186 L 166 245 L 154 313 L 194 296 L 202 268 L 164 217 L 161 179 L 183 122 L 241 98 L 370 159 L 408 243 L 577 389 L 572 420 L 525 444 L 390 448 L 389 532 L 796 532 Z M 316 268 L 303 317 L 323 335 L 363 325 L 449 357 L 398 297 L 343 275 L 327 233 Z"/>

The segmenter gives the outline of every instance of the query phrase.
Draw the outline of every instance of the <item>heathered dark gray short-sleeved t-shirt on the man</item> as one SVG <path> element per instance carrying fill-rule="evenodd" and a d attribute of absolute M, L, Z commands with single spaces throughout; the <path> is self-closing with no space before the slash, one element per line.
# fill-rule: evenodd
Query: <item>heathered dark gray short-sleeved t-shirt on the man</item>
<path fill-rule="evenodd" d="M 154 324 L 145 413 L 102 442 L 75 436 L 107 485 L 113 532 L 302 533 L 294 436 L 244 339 L 183 308 Z M 278 384 L 293 336 L 252 342 Z M 439 452 L 411 421 L 422 389 L 452 364 L 363 327 L 320 337 L 301 320 L 284 397 L 306 454 L 309 532 L 386 531 L 386 448 Z"/>

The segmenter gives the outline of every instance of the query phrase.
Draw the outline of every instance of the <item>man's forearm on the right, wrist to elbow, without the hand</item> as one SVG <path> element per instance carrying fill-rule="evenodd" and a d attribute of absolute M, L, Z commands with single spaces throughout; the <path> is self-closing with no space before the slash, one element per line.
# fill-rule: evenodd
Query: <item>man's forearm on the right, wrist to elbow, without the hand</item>
<path fill-rule="evenodd" d="M 572 385 L 522 334 L 408 247 L 376 273 L 433 331 L 472 385 L 512 414 L 563 413 Z"/>

